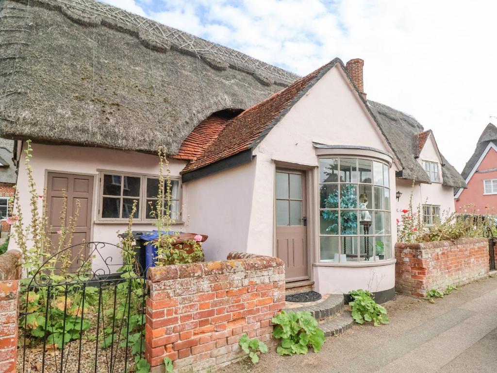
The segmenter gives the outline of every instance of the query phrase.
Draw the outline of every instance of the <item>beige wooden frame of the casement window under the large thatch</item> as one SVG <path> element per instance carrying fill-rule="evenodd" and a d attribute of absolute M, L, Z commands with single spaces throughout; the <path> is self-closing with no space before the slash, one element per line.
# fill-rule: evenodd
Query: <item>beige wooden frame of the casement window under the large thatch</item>
<path fill-rule="evenodd" d="M 146 183 L 147 179 L 159 179 L 159 175 L 151 175 L 151 174 L 138 174 L 138 173 L 128 173 L 128 172 L 120 172 L 120 171 L 113 171 L 113 170 L 99 170 L 99 188 L 98 188 L 98 214 L 97 214 L 97 221 L 98 222 L 127 222 L 129 218 L 103 218 L 102 217 L 102 212 L 103 212 L 103 181 L 104 181 L 104 175 L 111 175 L 111 176 L 121 176 L 121 177 L 132 177 L 132 178 L 140 178 L 140 195 L 138 197 L 139 201 L 139 212 L 138 212 L 138 218 L 133 218 L 133 222 L 135 223 L 152 223 L 156 221 L 156 219 L 148 219 L 146 218 L 146 213 L 147 213 L 147 189 L 146 189 Z M 178 182 L 178 197 L 179 199 L 173 199 L 178 201 L 178 208 L 179 211 L 177 212 L 177 216 L 175 218 L 176 223 L 181 223 L 181 207 L 182 207 L 182 184 L 181 184 L 181 178 L 180 177 L 170 177 L 171 181 L 177 181 Z M 166 180 L 164 181 L 166 183 Z M 121 187 L 122 188 L 122 187 Z M 105 196 L 113 197 L 113 198 L 121 198 L 121 208 L 120 208 L 120 213 L 122 213 L 122 198 L 134 198 L 134 197 L 128 197 L 128 196 L 123 196 L 123 195 L 107 195 Z M 152 199 L 152 198 L 149 198 Z"/>

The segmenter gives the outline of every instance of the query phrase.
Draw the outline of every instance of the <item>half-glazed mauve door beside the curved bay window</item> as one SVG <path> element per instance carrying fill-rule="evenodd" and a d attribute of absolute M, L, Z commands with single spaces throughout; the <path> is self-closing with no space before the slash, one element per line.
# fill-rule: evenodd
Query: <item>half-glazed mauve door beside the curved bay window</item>
<path fill-rule="evenodd" d="M 276 255 L 287 282 L 309 279 L 305 179 L 300 171 L 276 171 Z"/>

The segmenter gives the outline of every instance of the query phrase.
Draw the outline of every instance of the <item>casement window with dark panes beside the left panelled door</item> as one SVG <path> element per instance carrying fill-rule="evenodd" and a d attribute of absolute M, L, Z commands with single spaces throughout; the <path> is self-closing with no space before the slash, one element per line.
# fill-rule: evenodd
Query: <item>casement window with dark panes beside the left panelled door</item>
<path fill-rule="evenodd" d="M 166 186 L 165 186 L 166 187 Z M 179 179 L 171 179 L 171 203 L 169 206 L 171 218 L 180 217 Z M 102 172 L 100 175 L 100 220 L 128 220 L 137 201 L 134 221 L 154 220 L 159 193 L 159 178 L 153 176 Z M 166 201 L 164 202 L 166 205 Z"/>

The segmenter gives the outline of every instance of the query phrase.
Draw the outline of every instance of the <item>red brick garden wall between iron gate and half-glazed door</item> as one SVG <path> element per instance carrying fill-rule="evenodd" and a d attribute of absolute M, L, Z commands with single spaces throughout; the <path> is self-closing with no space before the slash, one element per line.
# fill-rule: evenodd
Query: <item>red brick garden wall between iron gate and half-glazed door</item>
<path fill-rule="evenodd" d="M 198 372 L 244 356 L 244 334 L 268 342 L 270 320 L 285 305 L 285 267 L 278 258 L 230 253 L 224 262 L 148 270 L 146 357 L 151 372 Z"/>

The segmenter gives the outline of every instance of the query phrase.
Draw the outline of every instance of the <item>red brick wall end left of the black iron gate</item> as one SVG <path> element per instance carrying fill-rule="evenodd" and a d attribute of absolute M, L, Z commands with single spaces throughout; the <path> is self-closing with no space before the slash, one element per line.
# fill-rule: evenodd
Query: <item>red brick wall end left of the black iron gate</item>
<path fill-rule="evenodd" d="M 16 371 L 20 258 L 18 251 L 0 255 L 0 373 Z"/>

